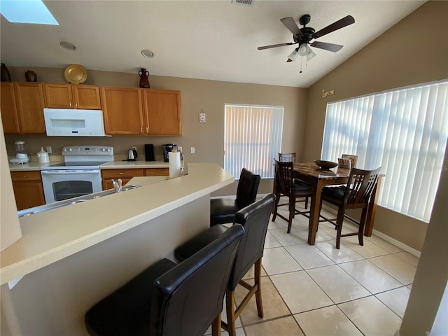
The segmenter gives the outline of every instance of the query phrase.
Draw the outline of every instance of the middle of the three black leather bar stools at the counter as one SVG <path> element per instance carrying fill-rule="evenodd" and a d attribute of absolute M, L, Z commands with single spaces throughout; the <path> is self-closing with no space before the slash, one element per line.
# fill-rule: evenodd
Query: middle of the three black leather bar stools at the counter
<path fill-rule="evenodd" d="M 239 210 L 237 214 L 235 214 L 234 225 L 239 223 L 244 226 L 244 236 L 239 244 L 235 265 L 233 266 L 232 274 L 230 275 L 225 293 L 228 323 L 221 322 L 221 325 L 229 332 L 230 336 L 235 336 L 235 320 L 254 294 L 257 303 L 258 316 L 263 317 L 261 297 L 261 258 L 265 246 L 269 216 L 274 202 L 275 195 L 271 193 Z M 234 225 L 230 228 L 233 228 Z M 230 229 L 225 225 L 214 225 L 176 248 L 174 255 L 176 255 L 176 258 L 179 261 L 188 260 L 190 255 L 194 255 L 196 251 L 207 246 L 210 241 L 213 241 L 227 230 Z M 253 286 L 246 281 L 241 280 L 252 266 L 255 267 L 255 280 Z M 235 288 L 237 288 L 238 283 L 248 289 L 249 292 L 235 310 Z"/>

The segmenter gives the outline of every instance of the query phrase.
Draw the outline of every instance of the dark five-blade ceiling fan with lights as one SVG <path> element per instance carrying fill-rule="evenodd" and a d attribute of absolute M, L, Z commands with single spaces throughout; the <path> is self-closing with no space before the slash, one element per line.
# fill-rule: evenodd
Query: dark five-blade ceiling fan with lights
<path fill-rule="evenodd" d="M 290 53 L 290 55 L 288 56 L 288 60 L 286 62 L 293 62 L 293 61 L 295 61 L 295 59 L 297 59 L 298 56 L 302 56 L 302 57 L 306 56 L 307 61 L 309 61 L 309 59 L 316 56 L 316 54 L 313 52 L 313 50 L 311 50 L 311 48 L 309 48 L 310 46 L 320 48 L 323 50 L 332 51 L 332 52 L 337 52 L 337 51 L 341 50 L 343 45 L 318 42 L 318 41 L 314 41 L 314 42 L 310 43 L 310 41 L 313 39 L 319 38 L 321 36 L 324 36 L 326 34 L 329 34 L 332 31 L 341 29 L 343 27 L 346 27 L 348 25 L 355 23 L 355 19 L 351 15 L 347 15 L 345 18 L 342 18 L 341 20 L 338 20 L 319 31 L 315 31 L 314 28 L 306 27 L 306 25 L 308 25 L 309 22 L 311 21 L 311 15 L 309 15 L 309 14 L 302 15 L 299 19 L 299 23 L 300 23 L 300 25 L 303 26 L 303 28 L 297 27 L 297 24 L 295 23 L 293 18 L 283 18 L 280 21 L 283 23 L 283 25 L 286 26 L 286 28 L 289 29 L 289 31 L 291 33 L 293 33 L 293 41 L 294 42 L 265 45 L 263 47 L 258 47 L 258 50 L 282 47 L 283 45 L 298 44 L 299 46 L 297 48 L 295 48 L 295 50 L 293 50 L 293 52 Z M 300 72 L 302 72 L 302 71 L 300 71 Z"/>

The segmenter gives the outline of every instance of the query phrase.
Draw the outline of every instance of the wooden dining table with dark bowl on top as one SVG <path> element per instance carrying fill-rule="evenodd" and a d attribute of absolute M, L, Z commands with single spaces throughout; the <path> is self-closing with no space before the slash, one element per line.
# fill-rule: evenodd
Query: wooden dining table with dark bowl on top
<path fill-rule="evenodd" d="M 302 181 L 308 182 L 313 186 L 313 195 L 311 197 L 311 207 L 309 214 L 308 227 L 308 244 L 314 245 L 316 241 L 316 231 L 319 223 L 319 212 L 321 204 L 321 192 L 324 186 L 332 186 L 337 184 L 346 184 L 350 175 L 350 169 L 332 168 L 321 169 L 314 162 L 304 162 L 294 164 L 294 177 Z M 367 207 L 367 223 L 365 223 L 364 235 L 370 237 L 372 235 L 374 217 L 377 210 L 377 190 L 381 185 L 381 177 L 378 178 L 377 187 L 370 197 Z"/>

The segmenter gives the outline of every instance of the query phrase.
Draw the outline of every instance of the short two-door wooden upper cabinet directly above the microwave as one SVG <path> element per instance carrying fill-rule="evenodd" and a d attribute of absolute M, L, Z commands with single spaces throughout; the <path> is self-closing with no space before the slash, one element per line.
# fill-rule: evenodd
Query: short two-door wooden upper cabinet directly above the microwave
<path fill-rule="evenodd" d="M 96 85 L 44 84 L 45 106 L 55 109 L 100 110 L 101 99 Z"/>

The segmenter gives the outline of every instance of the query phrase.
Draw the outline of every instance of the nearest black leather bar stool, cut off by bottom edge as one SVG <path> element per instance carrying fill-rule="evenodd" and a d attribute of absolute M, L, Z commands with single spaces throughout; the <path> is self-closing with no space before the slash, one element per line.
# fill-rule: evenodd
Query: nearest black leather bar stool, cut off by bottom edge
<path fill-rule="evenodd" d="M 85 314 L 95 336 L 221 335 L 225 288 L 244 228 L 232 225 L 190 258 L 155 262 Z"/>

